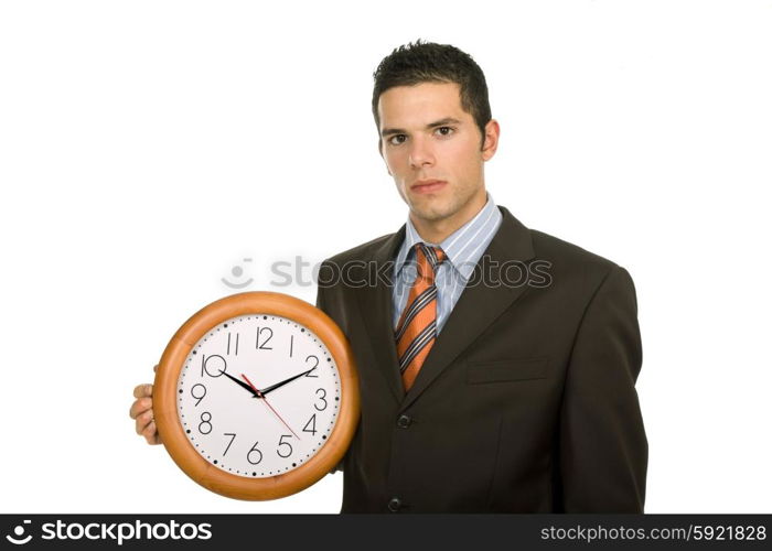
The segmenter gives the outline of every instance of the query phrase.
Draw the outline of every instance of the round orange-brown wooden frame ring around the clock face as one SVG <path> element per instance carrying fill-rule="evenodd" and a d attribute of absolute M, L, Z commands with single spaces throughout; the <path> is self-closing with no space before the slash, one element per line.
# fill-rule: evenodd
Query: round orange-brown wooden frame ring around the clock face
<path fill-rule="evenodd" d="M 337 420 L 322 449 L 299 467 L 265 478 L 236 476 L 210 464 L 185 436 L 176 411 L 180 371 L 193 346 L 218 324 L 250 314 L 287 317 L 311 329 L 330 350 L 341 378 Z M 167 345 L 153 385 L 153 415 L 161 441 L 172 460 L 200 485 L 236 499 L 267 500 L 286 497 L 308 488 L 330 473 L 351 444 L 360 419 L 360 389 L 354 356 L 335 322 L 311 304 L 268 291 L 233 294 L 193 314 Z"/>

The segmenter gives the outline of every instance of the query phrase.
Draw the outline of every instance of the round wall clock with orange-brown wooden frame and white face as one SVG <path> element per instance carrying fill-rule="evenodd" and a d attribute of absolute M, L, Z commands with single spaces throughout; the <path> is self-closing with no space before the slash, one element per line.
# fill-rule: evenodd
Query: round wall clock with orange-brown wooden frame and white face
<path fill-rule="evenodd" d="M 345 454 L 360 418 L 356 367 L 321 310 L 281 293 L 234 294 L 171 338 L 153 414 L 169 454 L 205 488 L 285 497 Z"/>

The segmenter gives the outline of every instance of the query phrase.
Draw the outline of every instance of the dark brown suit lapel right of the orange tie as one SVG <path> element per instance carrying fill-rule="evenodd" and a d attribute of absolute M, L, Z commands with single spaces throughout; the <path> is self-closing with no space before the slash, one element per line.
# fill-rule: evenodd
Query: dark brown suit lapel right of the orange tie
<path fill-rule="evenodd" d="M 496 267 L 504 262 L 527 261 L 534 258 L 534 248 L 528 229 L 504 207 L 498 231 L 491 240 L 481 261 L 474 268 L 469 284 L 461 293 L 444 327 L 437 337 L 421 370 L 418 372 L 410 390 L 405 395 L 403 408 L 407 408 L 423 390 L 464 350 L 493 321 L 526 290 L 527 285 L 506 287 L 486 284 L 490 278 L 483 278 L 482 260 L 487 256 L 489 266 Z M 497 271 L 490 269 L 497 278 Z M 476 283 L 474 283 L 476 282 Z M 390 312 L 390 311 L 389 311 Z M 389 317 L 390 320 L 390 317 Z M 390 323 L 390 322 L 389 322 Z M 390 348 L 395 348 L 392 336 Z M 396 353 L 394 353 L 396 361 Z M 399 378 L 397 378 L 399 380 Z M 400 387 L 401 388 L 401 387 Z"/>

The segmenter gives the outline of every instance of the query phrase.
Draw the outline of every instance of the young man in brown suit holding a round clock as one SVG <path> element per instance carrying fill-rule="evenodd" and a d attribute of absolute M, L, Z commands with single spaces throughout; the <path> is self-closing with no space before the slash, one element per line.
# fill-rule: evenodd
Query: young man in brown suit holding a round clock
<path fill-rule="evenodd" d="M 465 53 L 395 50 L 375 73 L 373 114 L 410 212 L 320 270 L 318 305 L 360 370 L 342 511 L 643 511 L 628 272 L 495 206 L 484 163 L 498 123 Z M 131 415 L 158 443 L 149 390 L 135 390 Z"/>

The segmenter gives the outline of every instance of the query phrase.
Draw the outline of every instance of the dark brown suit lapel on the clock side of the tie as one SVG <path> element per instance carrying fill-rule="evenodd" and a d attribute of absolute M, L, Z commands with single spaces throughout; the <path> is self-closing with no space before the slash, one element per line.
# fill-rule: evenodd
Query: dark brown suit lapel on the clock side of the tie
<path fill-rule="evenodd" d="M 371 259 L 365 259 L 373 260 L 375 271 L 387 276 L 389 281 L 394 277 L 394 259 L 404 239 L 405 226 L 386 239 L 374 251 Z M 384 267 L 387 268 L 385 271 L 383 270 Z M 394 327 L 392 326 L 394 311 L 392 305 L 393 285 L 377 279 L 375 285 L 368 284 L 360 289 L 356 294 L 358 296 L 360 311 L 371 337 L 371 347 L 377 368 L 386 379 L 386 383 L 394 393 L 395 399 L 400 402 L 405 398 L 405 389 L 399 376 L 397 347 L 394 341 Z"/>

